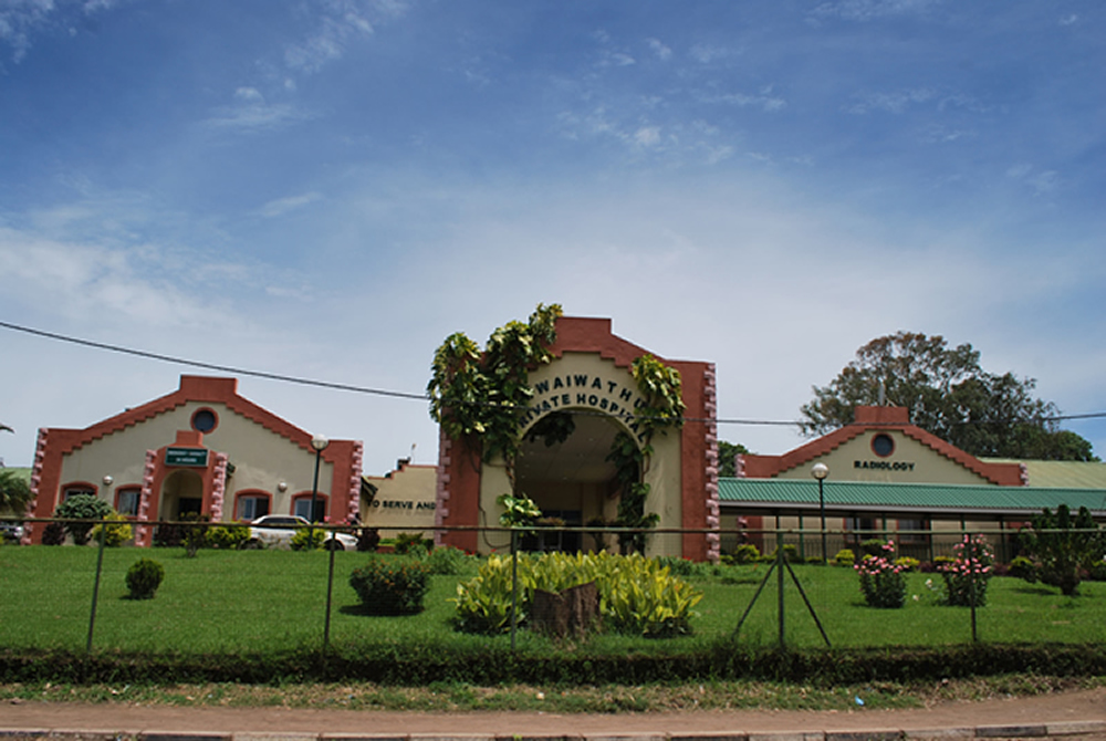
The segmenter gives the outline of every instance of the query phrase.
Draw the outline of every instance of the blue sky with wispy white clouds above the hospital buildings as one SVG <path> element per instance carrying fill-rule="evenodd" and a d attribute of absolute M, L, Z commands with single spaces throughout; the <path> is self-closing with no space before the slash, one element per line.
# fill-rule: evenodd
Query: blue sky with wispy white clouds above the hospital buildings
<path fill-rule="evenodd" d="M 1106 411 L 1103 70 L 1098 0 L 0 0 L 0 322 L 419 395 L 560 303 L 772 421 L 904 330 Z M 0 458 L 192 373 L 0 327 Z M 425 401 L 239 378 L 437 460 Z"/>

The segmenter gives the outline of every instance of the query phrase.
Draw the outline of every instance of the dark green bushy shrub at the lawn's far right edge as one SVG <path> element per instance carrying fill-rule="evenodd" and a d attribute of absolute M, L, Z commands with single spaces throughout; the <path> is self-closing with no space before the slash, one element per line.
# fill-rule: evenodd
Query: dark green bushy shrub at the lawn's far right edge
<path fill-rule="evenodd" d="M 1045 508 L 1033 518 L 1033 526 L 1021 532 L 1021 540 L 1034 562 L 1026 580 L 1058 586 L 1068 597 L 1078 592 L 1084 572 L 1106 553 L 1104 533 L 1085 507 L 1074 519 L 1067 504 L 1057 507 L 1055 514 Z"/>

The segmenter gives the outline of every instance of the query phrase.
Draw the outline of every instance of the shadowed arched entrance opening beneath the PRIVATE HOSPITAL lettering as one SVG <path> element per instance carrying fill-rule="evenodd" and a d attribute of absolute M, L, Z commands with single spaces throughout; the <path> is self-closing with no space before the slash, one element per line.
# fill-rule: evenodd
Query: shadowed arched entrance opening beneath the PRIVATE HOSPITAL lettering
<path fill-rule="evenodd" d="M 573 429 L 562 442 L 546 445 L 544 438 L 526 439 L 515 465 L 517 488 L 538 504 L 552 524 L 580 528 L 612 522 L 618 511 L 615 466 L 606 460 L 611 443 L 622 427 L 603 415 L 573 415 Z M 528 543 L 541 551 L 598 551 L 601 535 L 580 532 L 541 533 Z"/>

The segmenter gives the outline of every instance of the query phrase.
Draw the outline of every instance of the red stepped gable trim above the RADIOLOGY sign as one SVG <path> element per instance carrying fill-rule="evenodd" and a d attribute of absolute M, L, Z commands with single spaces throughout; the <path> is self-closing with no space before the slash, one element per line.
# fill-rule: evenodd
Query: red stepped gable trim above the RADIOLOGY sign
<path fill-rule="evenodd" d="M 1004 487 L 1020 487 L 1025 483 L 1022 480 L 1021 467 L 1016 462 L 984 462 L 917 425 L 911 425 L 909 414 L 906 407 L 856 407 L 856 421 L 852 425 L 837 428 L 782 456 L 742 455 L 741 476 L 750 479 L 771 479 L 784 471 L 805 466 L 869 430 L 898 430 L 991 483 Z"/>

